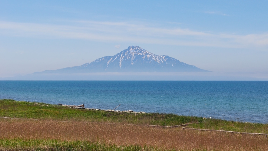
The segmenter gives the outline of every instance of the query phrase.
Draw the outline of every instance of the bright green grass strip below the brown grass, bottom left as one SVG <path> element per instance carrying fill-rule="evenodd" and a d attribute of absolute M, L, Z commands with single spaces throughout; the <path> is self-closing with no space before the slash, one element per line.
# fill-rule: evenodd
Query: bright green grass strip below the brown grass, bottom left
<path fill-rule="evenodd" d="M 32 150 L 32 151 L 70 151 L 70 150 L 103 150 L 103 151 L 153 151 L 157 148 L 129 145 L 116 146 L 89 141 L 60 141 L 51 139 L 0 139 L 0 150 Z"/>

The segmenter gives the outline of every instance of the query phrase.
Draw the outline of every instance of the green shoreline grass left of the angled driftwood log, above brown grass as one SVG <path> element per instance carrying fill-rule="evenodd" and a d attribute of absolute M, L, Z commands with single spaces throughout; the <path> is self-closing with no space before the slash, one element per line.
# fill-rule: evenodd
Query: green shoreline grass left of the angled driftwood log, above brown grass
<path fill-rule="evenodd" d="M 190 122 L 201 122 L 201 117 L 178 116 L 160 113 L 104 112 L 84 109 L 71 109 L 65 106 L 45 103 L 0 100 L 0 116 L 27 119 L 53 119 L 89 122 L 116 122 L 128 124 L 172 126 Z"/>

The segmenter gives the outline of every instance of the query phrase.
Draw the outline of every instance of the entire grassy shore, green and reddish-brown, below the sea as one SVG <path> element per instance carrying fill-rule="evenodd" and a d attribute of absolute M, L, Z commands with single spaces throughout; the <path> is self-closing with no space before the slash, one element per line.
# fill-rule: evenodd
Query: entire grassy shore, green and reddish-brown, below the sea
<path fill-rule="evenodd" d="M 268 150 L 268 124 L 0 100 L 0 150 Z M 190 124 L 192 123 L 192 124 Z M 157 125 L 159 127 L 152 127 Z"/>

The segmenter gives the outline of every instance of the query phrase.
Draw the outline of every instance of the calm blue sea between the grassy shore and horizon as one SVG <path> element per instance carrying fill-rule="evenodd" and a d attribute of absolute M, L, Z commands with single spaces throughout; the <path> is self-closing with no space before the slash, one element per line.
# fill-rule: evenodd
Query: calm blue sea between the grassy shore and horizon
<path fill-rule="evenodd" d="M 0 81 L 0 99 L 268 123 L 268 81 Z"/>

